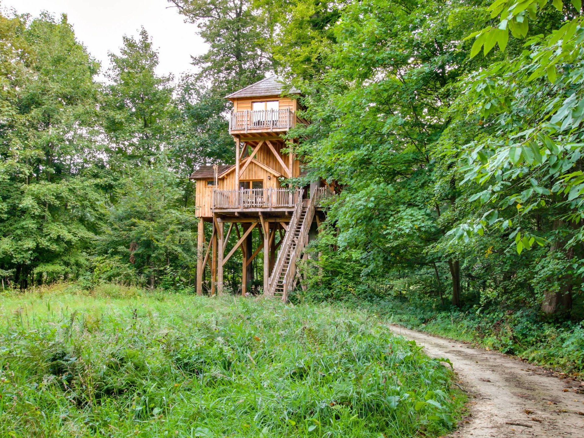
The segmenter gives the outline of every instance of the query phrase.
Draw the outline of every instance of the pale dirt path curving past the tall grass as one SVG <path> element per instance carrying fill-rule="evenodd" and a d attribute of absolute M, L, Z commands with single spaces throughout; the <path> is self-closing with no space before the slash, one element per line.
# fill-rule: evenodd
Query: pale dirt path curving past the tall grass
<path fill-rule="evenodd" d="M 503 354 L 391 326 L 432 357 L 447 357 L 471 395 L 470 416 L 453 438 L 584 438 L 584 387 Z M 567 390 L 567 391 L 566 391 Z M 508 423 L 520 423 L 513 425 Z"/>

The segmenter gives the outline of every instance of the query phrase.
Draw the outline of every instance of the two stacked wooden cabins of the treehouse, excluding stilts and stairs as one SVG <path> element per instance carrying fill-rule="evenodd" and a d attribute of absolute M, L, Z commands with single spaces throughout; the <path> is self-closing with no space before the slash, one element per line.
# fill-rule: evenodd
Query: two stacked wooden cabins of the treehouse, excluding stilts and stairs
<path fill-rule="evenodd" d="M 280 179 L 300 176 L 300 161 L 284 154 L 281 135 L 298 123 L 300 108 L 294 88 L 284 93 L 284 84 L 272 76 L 231 93 L 233 102 L 229 130 L 235 141 L 235 164 L 201 166 L 196 180 L 196 214 L 210 221 L 213 216 L 260 212 L 288 214 L 297 203 L 299 190 L 282 186 Z"/>

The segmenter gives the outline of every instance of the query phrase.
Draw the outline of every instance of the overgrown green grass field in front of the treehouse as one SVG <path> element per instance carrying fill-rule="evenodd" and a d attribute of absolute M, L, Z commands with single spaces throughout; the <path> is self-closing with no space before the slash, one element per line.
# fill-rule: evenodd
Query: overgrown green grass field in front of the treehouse
<path fill-rule="evenodd" d="M 1 437 L 439 436 L 464 397 L 382 319 L 103 286 L 0 296 Z"/>

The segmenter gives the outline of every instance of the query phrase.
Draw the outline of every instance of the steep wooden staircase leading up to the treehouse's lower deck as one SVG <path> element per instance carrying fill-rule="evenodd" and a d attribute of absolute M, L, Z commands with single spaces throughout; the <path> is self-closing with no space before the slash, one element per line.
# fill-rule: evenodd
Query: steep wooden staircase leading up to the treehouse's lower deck
<path fill-rule="evenodd" d="M 294 213 L 288 224 L 276 265 L 268 281 L 267 295 L 281 298 L 286 303 L 288 293 L 296 287 L 296 263 L 308 244 L 310 225 L 314 220 L 314 211 L 318 202 L 329 194 L 325 187 L 319 187 L 310 199 L 302 199 L 304 191 L 300 192 Z"/>

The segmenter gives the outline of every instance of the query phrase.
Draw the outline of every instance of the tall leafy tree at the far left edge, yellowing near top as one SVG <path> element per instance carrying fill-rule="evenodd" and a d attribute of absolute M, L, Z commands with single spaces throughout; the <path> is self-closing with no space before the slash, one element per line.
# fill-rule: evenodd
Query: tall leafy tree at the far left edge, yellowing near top
<path fill-rule="evenodd" d="M 98 63 L 63 15 L 0 19 L 0 269 L 25 288 L 83 270 L 100 199 L 88 171 Z"/>

